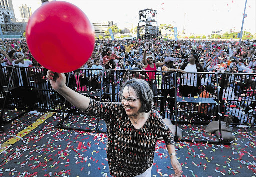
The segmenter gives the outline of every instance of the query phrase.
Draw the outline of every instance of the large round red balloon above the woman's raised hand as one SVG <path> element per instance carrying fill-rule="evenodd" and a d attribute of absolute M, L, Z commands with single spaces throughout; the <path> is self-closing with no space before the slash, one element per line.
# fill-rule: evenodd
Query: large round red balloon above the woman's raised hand
<path fill-rule="evenodd" d="M 46 2 L 30 17 L 26 40 L 33 57 L 53 72 L 80 68 L 91 56 L 95 32 L 77 6 L 62 1 Z"/>

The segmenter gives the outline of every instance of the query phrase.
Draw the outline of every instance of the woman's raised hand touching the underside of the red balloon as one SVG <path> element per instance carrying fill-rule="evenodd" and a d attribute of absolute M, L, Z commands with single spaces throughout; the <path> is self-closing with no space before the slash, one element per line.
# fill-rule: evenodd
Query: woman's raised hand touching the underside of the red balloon
<path fill-rule="evenodd" d="M 66 85 L 66 76 L 64 73 L 54 73 L 48 70 L 46 77 L 50 81 L 52 88 L 56 91 Z"/>

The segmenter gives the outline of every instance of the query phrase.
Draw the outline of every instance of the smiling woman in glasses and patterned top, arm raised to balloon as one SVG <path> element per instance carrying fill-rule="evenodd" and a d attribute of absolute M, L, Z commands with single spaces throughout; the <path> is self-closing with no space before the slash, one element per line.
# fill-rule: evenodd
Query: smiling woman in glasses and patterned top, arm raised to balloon
<path fill-rule="evenodd" d="M 153 92 L 146 81 L 130 79 L 123 83 L 119 102 L 99 102 L 82 96 L 65 85 L 63 73 L 48 71 L 51 86 L 78 109 L 102 118 L 107 127 L 107 158 L 114 177 L 151 177 L 157 138 L 163 137 L 175 171 L 180 177 L 182 168 L 176 157 L 171 130 L 160 114 L 152 109 Z"/>

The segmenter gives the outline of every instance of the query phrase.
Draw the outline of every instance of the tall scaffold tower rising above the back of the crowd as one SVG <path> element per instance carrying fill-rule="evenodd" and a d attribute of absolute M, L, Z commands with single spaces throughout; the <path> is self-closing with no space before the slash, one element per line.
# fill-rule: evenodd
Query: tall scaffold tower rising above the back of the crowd
<path fill-rule="evenodd" d="M 156 21 L 157 10 L 144 9 L 139 11 L 139 23 L 137 38 L 156 38 L 159 35 L 159 28 Z"/>

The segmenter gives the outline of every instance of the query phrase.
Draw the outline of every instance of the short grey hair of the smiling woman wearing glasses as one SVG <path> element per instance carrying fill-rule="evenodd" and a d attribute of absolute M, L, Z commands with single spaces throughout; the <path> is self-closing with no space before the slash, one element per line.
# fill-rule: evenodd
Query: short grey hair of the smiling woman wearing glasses
<path fill-rule="evenodd" d="M 149 84 L 145 80 L 132 78 L 123 83 L 120 89 L 120 99 L 122 98 L 123 90 L 125 87 L 127 87 L 128 91 L 129 88 L 133 88 L 136 95 L 140 98 L 142 105 L 139 109 L 140 112 L 151 111 L 154 94 Z"/>

